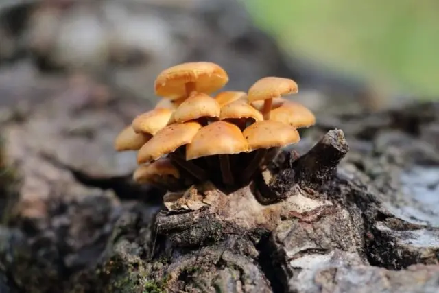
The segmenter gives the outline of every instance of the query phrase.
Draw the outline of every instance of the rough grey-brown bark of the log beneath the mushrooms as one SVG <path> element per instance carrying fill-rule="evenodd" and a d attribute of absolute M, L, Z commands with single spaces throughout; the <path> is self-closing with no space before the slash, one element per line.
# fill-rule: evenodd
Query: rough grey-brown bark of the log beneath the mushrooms
<path fill-rule="evenodd" d="M 438 104 L 318 115 L 270 183 L 167 212 L 112 149 L 146 105 L 86 93 L 3 108 L 1 292 L 437 292 Z"/>

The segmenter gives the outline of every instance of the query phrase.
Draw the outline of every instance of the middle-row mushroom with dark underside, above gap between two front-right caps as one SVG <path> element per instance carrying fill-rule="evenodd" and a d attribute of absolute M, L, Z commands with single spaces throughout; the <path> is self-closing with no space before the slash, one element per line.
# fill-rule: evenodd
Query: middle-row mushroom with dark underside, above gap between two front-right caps
<path fill-rule="evenodd" d="M 237 99 L 235 102 L 226 104 L 221 108 L 219 119 L 232 122 L 241 130 L 244 130 L 248 120 L 252 122 L 261 121 L 263 116 L 259 110 L 248 104 L 246 100 Z"/>

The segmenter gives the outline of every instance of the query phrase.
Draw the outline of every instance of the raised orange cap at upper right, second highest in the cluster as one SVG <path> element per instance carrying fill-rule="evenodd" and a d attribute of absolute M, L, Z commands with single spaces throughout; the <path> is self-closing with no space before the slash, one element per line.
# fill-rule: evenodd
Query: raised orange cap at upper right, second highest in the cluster
<path fill-rule="evenodd" d="M 255 82 L 248 90 L 248 102 L 273 99 L 298 92 L 298 86 L 289 78 L 268 76 Z"/>

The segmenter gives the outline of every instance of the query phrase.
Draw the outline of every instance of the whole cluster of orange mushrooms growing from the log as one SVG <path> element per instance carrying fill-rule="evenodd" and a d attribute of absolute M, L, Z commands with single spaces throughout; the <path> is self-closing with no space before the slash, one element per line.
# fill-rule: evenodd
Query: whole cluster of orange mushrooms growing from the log
<path fill-rule="evenodd" d="M 153 110 L 134 118 L 115 140 L 117 151 L 137 150 L 134 180 L 167 191 L 210 181 L 242 187 L 270 161 L 272 150 L 300 140 L 297 128 L 315 123 L 310 110 L 285 99 L 294 80 L 266 77 L 248 93 L 222 91 L 228 75 L 212 62 L 187 62 L 162 71 Z"/>

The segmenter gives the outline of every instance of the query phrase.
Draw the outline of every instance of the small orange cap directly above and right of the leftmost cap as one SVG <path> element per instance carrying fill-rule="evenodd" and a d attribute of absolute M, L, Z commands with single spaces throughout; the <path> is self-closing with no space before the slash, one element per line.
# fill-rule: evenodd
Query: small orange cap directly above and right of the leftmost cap
<path fill-rule="evenodd" d="M 171 119 L 171 115 L 171 109 L 156 108 L 134 118 L 131 125 L 134 132 L 155 135 L 158 130 L 167 126 L 169 119 Z"/>

